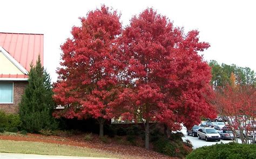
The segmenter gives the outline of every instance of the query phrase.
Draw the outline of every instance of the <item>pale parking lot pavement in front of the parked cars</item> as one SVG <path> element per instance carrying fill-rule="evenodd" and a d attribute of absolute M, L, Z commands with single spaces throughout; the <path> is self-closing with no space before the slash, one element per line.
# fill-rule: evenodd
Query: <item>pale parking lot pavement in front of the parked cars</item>
<path fill-rule="evenodd" d="M 193 149 L 196 149 L 196 148 L 199 148 L 199 147 L 202 147 L 202 146 L 211 146 L 212 144 L 216 144 L 216 143 L 228 143 L 228 142 L 232 142 L 232 140 L 220 140 L 220 141 L 208 141 L 206 142 L 205 140 L 199 140 L 197 137 L 193 137 L 192 135 L 187 135 L 187 128 L 186 127 L 183 127 L 181 129 L 181 132 L 184 134 L 184 138 L 183 140 L 190 140 L 192 145 L 193 145 Z M 238 139 L 238 142 L 241 143 L 241 140 Z"/>

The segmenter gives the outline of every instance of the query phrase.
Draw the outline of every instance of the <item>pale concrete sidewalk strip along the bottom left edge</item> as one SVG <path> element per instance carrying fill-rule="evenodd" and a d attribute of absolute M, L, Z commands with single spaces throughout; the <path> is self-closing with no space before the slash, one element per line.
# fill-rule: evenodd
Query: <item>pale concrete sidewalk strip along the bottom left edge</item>
<path fill-rule="evenodd" d="M 0 153 L 0 159 L 96 159 L 100 157 L 77 157 L 77 156 L 55 156 L 55 155 L 34 155 L 34 154 L 12 154 L 12 153 Z M 104 159 L 104 157 L 100 158 Z"/>

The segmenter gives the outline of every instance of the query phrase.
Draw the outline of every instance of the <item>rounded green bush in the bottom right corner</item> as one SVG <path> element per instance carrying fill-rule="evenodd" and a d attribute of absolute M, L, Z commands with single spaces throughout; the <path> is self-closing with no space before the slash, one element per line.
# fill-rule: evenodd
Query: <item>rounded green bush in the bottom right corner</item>
<path fill-rule="evenodd" d="M 204 146 L 192 151 L 187 159 L 200 158 L 236 158 L 236 159 L 254 159 L 256 158 L 256 144 L 241 143 L 220 143 L 212 146 Z"/>

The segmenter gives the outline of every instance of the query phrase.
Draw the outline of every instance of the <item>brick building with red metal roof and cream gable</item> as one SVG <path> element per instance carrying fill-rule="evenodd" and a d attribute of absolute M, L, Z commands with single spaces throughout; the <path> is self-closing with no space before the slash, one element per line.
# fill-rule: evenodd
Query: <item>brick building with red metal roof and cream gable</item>
<path fill-rule="evenodd" d="M 18 112 L 30 63 L 40 56 L 43 65 L 43 44 L 43 34 L 0 32 L 0 110 Z"/>

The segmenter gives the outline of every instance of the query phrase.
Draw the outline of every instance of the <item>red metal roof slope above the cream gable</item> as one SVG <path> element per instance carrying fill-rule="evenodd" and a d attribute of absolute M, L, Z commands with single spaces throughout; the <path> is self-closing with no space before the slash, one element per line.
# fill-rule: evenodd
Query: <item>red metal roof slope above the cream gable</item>
<path fill-rule="evenodd" d="M 30 70 L 30 63 L 36 63 L 40 55 L 43 65 L 44 35 L 25 33 L 0 32 L 0 46 L 2 46 L 26 70 Z"/>

